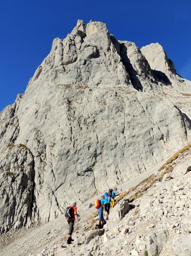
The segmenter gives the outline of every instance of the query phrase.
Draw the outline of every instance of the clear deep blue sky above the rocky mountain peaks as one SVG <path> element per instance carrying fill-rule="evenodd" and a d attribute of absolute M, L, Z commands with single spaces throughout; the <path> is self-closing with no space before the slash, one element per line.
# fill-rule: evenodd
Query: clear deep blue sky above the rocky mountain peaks
<path fill-rule="evenodd" d="M 0 111 L 23 93 L 49 54 L 78 19 L 107 24 L 118 40 L 140 48 L 160 43 L 178 74 L 191 80 L 191 0 L 9 0 L 0 3 Z"/>

